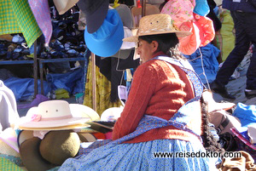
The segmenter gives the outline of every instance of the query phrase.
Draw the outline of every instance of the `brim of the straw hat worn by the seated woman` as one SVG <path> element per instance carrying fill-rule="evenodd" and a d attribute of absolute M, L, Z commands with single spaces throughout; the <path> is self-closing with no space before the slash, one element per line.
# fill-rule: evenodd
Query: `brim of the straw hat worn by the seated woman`
<path fill-rule="evenodd" d="M 133 37 L 127 37 L 127 38 L 124 38 L 123 41 L 124 42 L 138 42 L 138 37 L 141 37 L 141 36 L 168 34 L 168 33 L 176 33 L 177 37 L 187 37 L 192 34 L 192 32 L 190 32 L 190 31 L 157 31 L 157 32 L 150 32 L 147 34 L 140 34 L 140 35 L 133 36 Z"/>

